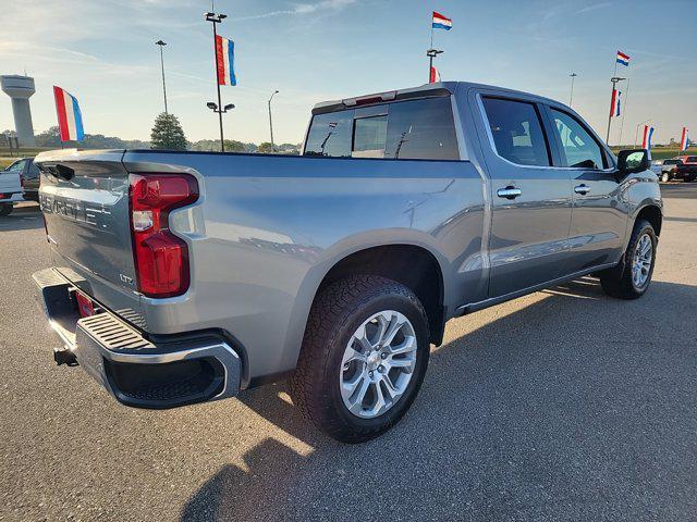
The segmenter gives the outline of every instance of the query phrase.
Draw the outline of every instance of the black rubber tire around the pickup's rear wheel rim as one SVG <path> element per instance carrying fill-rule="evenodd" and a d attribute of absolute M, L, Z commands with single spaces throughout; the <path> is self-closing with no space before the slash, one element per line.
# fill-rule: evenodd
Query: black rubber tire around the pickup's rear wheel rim
<path fill-rule="evenodd" d="M 340 390 L 342 357 L 354 332 L 371 315 L 394 310 L 414 327 L 416 363 L 404 394 L 381 415 L 354 415 Z M 290 388 L 303 414 L 330 437 L 356 444 L 394 426 L 416 398 L 426 374 L 429 325 L 424 307 L 404 285 L 386 277 L 357 275 L 338 281 L 317 296 L 310 311 L 297 368 Z"/>

